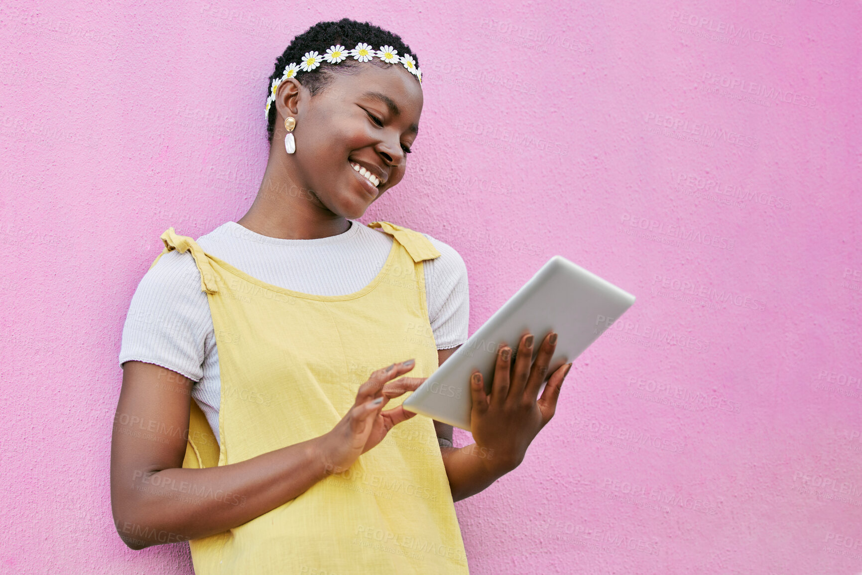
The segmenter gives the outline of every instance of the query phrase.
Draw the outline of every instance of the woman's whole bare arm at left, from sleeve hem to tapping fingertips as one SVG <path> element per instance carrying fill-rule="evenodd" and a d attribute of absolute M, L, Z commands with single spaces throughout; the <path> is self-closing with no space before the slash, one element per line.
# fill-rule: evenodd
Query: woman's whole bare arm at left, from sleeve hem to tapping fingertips
<path fill-rule="evenodd" d="M 174 378 L 174 372 L 127 362 L 111 438 L 111 510 L 117 533 L 133 549 L 223 533 L 344 472 L 383 441 L 389 429 L 412 416 L 400 406 L 382 409 L 388 399 L 415 391 L 425 381 L 399 378 L 414 365 L 408 360 L 373 372 L 359 386 L 353 407 L 319 437 L 227 466 L 184 469 L 187 440 L 158 430 L 189 429 L 191 380 L 177 374 L 183 391 L 177 393 L 158 384 L 161 377 Z M 134 427 L 131 422 L 149 422 L 147 429 L 154 433 L 137 433 L 128 427 Z"/>

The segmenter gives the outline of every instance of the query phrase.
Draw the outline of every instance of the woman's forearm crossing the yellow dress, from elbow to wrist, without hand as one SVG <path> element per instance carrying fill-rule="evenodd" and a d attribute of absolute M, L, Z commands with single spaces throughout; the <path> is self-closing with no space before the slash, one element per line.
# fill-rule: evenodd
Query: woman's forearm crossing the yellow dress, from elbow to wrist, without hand
<path fill-rule="evenodd" d="M 132 470 L 128 481 L 112 486 L 112 501 L 122 502 L 115 505 L 117 532 L 128 547 L 141 549 L 238 527 L 332 472 L 322 440 L 317 437 L 228 466 Z"/>

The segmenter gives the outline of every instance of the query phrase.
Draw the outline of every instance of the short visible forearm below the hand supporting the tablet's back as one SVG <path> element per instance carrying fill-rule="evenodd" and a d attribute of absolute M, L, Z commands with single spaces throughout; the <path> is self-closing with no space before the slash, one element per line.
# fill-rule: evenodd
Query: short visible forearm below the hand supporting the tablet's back
<path fill-rule="evenodd" d="M 520 461 L 507 461 L 498 453 L 471 443 L 465 447 L 440 447 L 453 501 L 476 495 L 515 469 Z"/>

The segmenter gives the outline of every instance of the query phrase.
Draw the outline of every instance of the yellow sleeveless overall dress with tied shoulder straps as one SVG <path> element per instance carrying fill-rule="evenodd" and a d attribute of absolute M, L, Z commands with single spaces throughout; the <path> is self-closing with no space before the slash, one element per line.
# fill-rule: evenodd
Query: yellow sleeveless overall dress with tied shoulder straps
<path fill-rule="evenodd" d="M 221 448 L 192 401 L 184 467 L 225 466 L 327 433 L 381 367 L 415 358 L 409 376 L 437 369 L 422 262 L 440 253 L 413 230 L 369 226 L 395 241 L 371 284 L 346 296 L 266 284 L 173 228 L 161 235 L 162 254 L 191 251 L 201 272 L 222 380 Z M 424 416 L 399 423 L 346 472 L 190 545 L 197 575 L 468 572 L 434 424 Z"/>

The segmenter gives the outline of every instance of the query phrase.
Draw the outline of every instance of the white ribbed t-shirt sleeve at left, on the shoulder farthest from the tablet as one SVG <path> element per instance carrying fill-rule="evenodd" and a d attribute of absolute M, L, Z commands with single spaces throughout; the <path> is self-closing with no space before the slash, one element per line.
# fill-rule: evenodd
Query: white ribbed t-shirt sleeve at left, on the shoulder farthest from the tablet
<path fill-rule="evenodd" d="M 209 317 L 191 253 L 164 254 L 134 291 L 122 328 L 120 365 L 143 361 L 200 381 Z"/>

